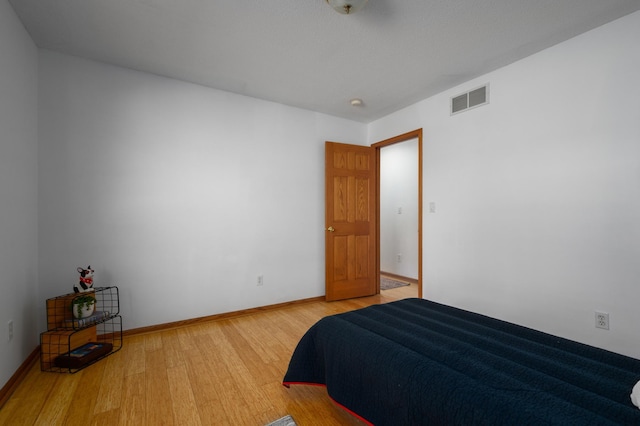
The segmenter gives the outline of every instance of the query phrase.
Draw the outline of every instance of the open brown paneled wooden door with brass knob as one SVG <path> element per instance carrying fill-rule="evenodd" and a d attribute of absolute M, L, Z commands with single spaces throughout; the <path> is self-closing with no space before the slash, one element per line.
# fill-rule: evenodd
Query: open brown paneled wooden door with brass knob
<path fill-rule="evenodd" d="M 375 176 L 374 148 L 326 143 L 327 301 L 378 292 Z"/>

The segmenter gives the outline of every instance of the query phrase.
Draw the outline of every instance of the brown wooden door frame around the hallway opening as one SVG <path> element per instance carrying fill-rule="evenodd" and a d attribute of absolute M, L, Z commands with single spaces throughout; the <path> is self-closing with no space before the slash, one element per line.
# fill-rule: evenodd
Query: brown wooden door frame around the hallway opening
<path fill-rule="evenodd" d="M 380 150 L 385 146 L 418 139 L 418 297 L 422 299 L 422 129 L 412 130 L 371 145 L 376 158 L 376 288 L 380 293 Z"/>

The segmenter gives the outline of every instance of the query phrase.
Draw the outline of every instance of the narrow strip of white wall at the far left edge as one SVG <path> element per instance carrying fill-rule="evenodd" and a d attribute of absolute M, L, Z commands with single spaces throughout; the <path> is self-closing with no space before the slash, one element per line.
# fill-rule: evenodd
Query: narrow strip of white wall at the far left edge
<path fill-rule="evenodd" d="M 0 387 L 38 345 L 38 51 L 0 1 Z M 13 321 L 9 341 L 8 322 Z"/>

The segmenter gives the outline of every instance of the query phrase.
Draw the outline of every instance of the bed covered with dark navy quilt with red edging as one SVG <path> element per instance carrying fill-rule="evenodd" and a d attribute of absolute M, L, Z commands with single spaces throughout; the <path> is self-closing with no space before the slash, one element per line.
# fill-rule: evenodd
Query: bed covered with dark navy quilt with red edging
<path fill-rule="evenodd" d="M 382 425 L 640 425 L 640 360 L 424 299 L 325 317 L 283 379 Z"/>

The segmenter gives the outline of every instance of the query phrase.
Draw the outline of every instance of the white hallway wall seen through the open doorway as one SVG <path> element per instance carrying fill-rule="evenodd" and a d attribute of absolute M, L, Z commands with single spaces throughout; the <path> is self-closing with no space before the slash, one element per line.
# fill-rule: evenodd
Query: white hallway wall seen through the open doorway
<path fill-rule="evenodd" d="M 380 150 L 380 270 L 418 278 L 418 139 Z"/>

